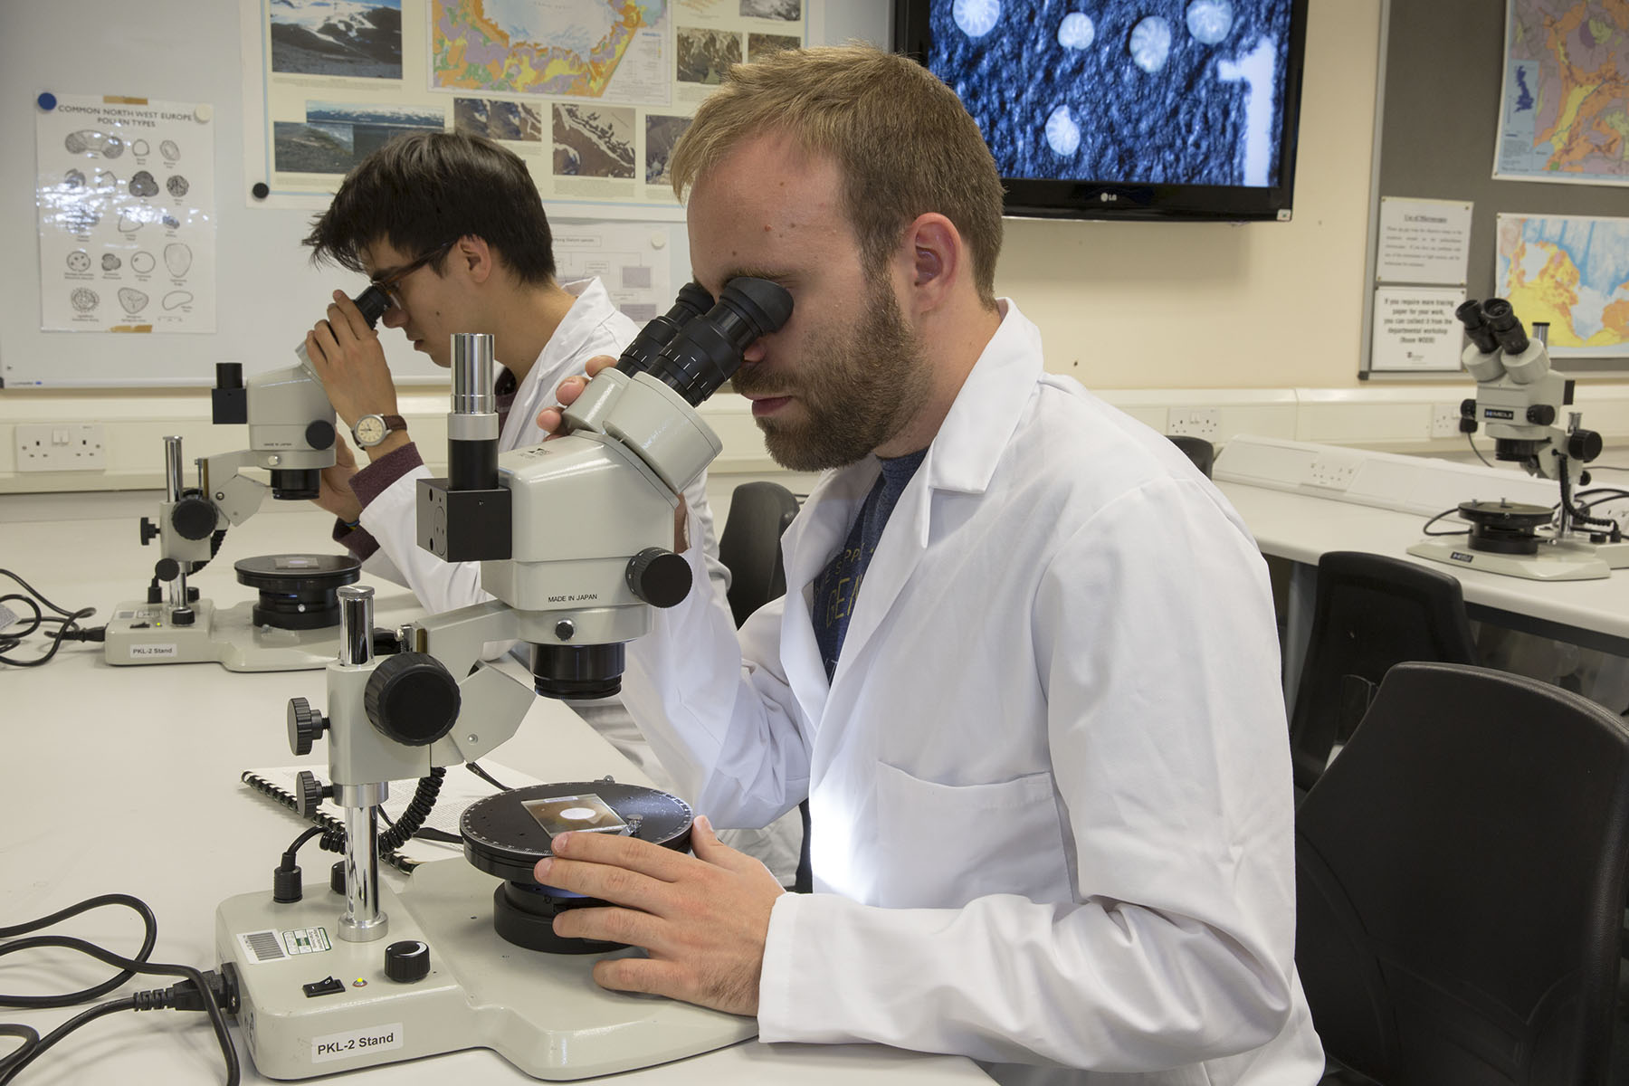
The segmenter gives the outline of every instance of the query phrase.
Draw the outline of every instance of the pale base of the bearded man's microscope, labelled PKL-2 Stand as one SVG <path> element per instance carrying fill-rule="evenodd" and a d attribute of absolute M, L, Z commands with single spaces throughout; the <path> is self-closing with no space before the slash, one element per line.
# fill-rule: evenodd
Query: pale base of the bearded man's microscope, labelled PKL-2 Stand
<path fill-rule="evenodd" d="M 371 943 L 340 941 L 344 899 L 321 884 L 292 905 L 269 892 L 222 902 L 215 948 L 238 972 L 238 1024 L 261 1075 L 310 1078 L 485 1047 L 533 1078 L 575 1079 L 757 1034 L 751 1018 L 606 992 L 591 975 L 603 954 L 503 941 L 492 928 L 497 884 L 461 858 L 420 865 L 404 894 L 380 886 L 389 931 Z M 428 944 L 424 980 L 386 979 L 384 948 L 401 939 Z M 339 982 L 331 995 L 306 996 L 301 985 L 329 977 Z"/>

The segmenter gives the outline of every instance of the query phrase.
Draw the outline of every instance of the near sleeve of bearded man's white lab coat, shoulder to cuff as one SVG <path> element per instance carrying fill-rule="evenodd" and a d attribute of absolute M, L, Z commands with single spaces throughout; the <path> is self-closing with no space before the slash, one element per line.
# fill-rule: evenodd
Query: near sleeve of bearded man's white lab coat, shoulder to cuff
<path fill-rule="evenodd" d="M 1170 479 L 1052 554 L 1030 607 L 1033 681 L 1074 900 L 787 894 L 762 1040 L 1152 1071 L 1285 1027 L 1292 799 L 1264 563 L 1199 480 Z M 956 863 L 956 842 L 943 848 Z"/>

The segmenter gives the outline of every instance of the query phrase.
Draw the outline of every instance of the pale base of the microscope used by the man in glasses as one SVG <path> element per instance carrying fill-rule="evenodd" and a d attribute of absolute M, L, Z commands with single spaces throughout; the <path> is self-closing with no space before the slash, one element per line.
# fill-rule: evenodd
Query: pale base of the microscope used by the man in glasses
<path fill-rule="evenodd" d="M 122 602 L 108 622 L 103 659 L 116 666 L 218 663 L 226 671 L 313 671 L 339 656 L 339 627 L 257 627 L 252 607 L 246 601 L 217 609 L 197 599 L 192 625 L 171 625 L 168 604 Z"/>

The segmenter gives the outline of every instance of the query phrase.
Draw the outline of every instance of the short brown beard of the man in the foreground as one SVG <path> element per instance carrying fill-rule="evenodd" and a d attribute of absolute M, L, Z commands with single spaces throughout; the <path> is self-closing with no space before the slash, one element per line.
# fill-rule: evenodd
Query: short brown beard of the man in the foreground
<path fill-rule="evenodd" d="M 865 313 L 849 327 L 821 329 L 803 348 L 792 383 L 756 366 L 736 370 L 746 394 L 793 396 L 800 418 L 757 420 L 769 456 L 787 471 L 826 471 L 886 444 L 927 399 L 930 370 L 899 301 L 881 277 L 867 282 Z"/>

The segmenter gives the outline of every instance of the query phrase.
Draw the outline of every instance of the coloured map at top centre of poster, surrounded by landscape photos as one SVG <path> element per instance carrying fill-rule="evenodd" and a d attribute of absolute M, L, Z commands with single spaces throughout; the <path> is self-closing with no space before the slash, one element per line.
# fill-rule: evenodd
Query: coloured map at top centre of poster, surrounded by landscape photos
<path fill-rule="evenodd" d="M 441 90 L 599 98 L 640 31 L 666 31 L 666 0 L 432 0 L 430 68 Z"/>

